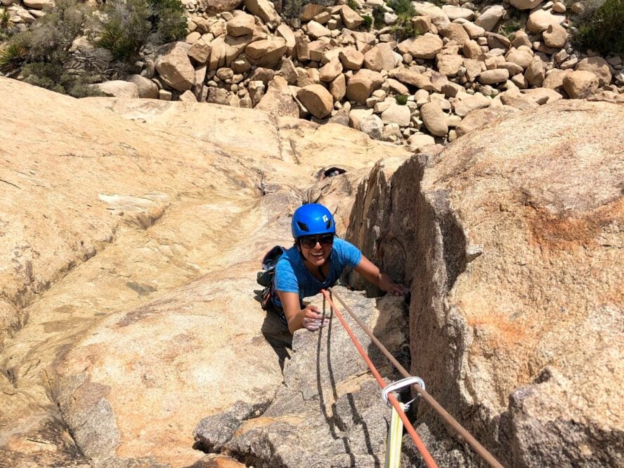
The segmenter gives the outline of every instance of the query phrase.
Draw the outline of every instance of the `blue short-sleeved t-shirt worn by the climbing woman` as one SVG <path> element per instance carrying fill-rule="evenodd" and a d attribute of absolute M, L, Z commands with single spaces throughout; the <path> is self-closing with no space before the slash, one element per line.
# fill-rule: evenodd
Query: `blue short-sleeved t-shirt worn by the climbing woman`
<path fill-rule="evenodd" d="M 356 268 L 362 259 L 362 252 L 346 240 L 334 238 L 330 254 L 330 272 L 327 279 L 320 282 L 304 265 L 304 259 L 296 246 L 290 247 L 275 266 L 275 290 L 299 293 L 299 301 L 311 297 L 334 285 L 345 267 Z M 281 307 L 280 298 L 273 298 L 275 305 Z"/>

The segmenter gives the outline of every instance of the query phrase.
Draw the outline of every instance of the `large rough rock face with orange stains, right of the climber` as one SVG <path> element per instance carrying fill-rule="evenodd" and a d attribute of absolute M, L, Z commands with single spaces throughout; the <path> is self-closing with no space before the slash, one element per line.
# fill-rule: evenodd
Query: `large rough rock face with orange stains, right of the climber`
<path fill-rule="evenodd" d="M 412 373 L 507 466 L 620 463 L 623 122 L 559 100 L 358 195 L 347 238 L 411 285 Z"/>

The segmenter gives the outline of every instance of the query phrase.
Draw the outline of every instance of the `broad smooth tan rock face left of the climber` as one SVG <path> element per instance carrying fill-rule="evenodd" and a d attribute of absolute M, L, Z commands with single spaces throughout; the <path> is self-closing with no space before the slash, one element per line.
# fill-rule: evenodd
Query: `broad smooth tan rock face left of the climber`
<path fill-rule="evenodd" d="M 372 166 L 381 146 L 205 103 L 76 100 L 4 78 L 0 96 L 0 460 L 197 462 L 202 417 L 282 382 L 289 335 L 254 289 L 262 254 L 292 242 L 292 194 L 324 167 Z"/>

